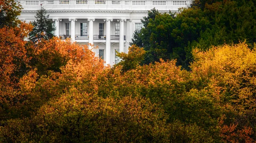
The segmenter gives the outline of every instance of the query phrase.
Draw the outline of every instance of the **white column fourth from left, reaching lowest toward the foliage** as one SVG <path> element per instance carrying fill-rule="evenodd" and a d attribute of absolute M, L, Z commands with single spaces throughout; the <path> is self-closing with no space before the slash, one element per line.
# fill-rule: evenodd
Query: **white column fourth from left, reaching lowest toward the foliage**
<path fill-rule="evenodd" d="M 113 19 L 105 19 L 106 21 L 106 64 L 111 64 L 111 42 L 110 42 L 110 22 Z"/>

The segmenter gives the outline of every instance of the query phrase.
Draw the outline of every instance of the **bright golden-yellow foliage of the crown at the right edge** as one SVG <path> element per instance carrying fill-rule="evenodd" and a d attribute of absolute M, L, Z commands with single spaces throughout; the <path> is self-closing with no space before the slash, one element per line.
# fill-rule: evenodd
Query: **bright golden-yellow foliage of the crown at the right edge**
<path fill-rule="evenodd" d="M 191 64 L 191 69 L 195 81 L 209 81 L 208 85 L 212 84 L 216 93 L 222 92 L 242 109 L 255 107 L 255 49 L 249 49 L 242 42 L 213 47 L 206 52 L 195 49 L 193 55 L 195 62 Z"/>

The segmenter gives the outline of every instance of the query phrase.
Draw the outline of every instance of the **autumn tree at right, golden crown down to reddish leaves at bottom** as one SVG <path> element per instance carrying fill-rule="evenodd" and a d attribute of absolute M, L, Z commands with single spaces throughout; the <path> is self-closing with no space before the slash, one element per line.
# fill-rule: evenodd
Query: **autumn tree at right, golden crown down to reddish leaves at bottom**
<path fill-rule="evenodd" d="M 207 52 L 195 49 L 193 55 L 195 62 L 191 69 L 195 87 L 213 89 L 217 93 L 215 98 L 221 99 L 220 103 L 226 107 L 226 116 L 221 123 L 223 137 L 227 140 L 255 140 L 252 134 L 256 131 L 255 50 L 250 50 L 243 42 L 214 47 Z"/>

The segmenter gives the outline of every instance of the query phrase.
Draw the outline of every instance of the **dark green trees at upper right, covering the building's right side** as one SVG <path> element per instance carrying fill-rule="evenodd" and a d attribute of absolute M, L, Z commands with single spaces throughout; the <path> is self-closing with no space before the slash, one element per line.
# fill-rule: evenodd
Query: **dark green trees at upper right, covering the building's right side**
<path fill-rule="evenodd" d="M 177 59 L 177 65 L 188 70 L 196 47 L 208 50 L 212 45 L 246 40 L 252 48 L 256 42 L 255 4 L 255 0 L 195 0 L 176 14 L 152 9 L 131 45 L 145 48 L 143 64 Z"/>

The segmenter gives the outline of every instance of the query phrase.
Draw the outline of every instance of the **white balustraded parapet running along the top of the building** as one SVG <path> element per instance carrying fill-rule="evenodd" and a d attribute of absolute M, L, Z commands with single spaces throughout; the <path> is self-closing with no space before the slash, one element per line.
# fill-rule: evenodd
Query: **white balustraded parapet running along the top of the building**
<path fill-rule="evenodd" d="M 20 2 L 23 11 L 38 10 L 41 5 L 47 11 L 55 10 L 150 10 L 177 11 L 178 8 L 187 7 L 192 0 L 15 0 Z"/>

